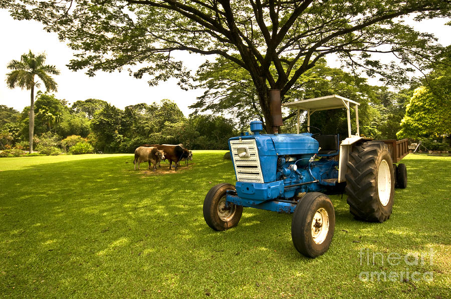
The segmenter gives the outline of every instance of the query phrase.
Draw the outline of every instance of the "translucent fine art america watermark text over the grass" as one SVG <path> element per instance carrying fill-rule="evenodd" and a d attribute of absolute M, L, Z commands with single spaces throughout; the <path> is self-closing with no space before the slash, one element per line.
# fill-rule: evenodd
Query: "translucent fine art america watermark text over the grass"
<path fill-rule="evenodd" d="M 374 252 L 369 248 L 362 248 L 359 251 L 360 266 L 402 266 L 403 269 L 401 271 L 361 271 L 359 279 L 362 281 L 432 281 L 431 271 L 412 271 L 409 270 L 409 266 L 433 265 L 433 256 L 432 248 L 429 248 L 429 252 L 408 252 L 407 254 Z"/>

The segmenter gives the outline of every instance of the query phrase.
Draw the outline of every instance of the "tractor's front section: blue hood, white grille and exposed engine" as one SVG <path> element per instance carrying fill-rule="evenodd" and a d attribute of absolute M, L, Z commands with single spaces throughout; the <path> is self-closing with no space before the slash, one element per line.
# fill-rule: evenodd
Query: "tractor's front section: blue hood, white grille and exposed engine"
<path fill-rule="evenodd" d="M 258 205 L 267 200 L 293 201 L 299 193 L 334 186 L 338 162 L 318 156 L 312 134 L 261 134 L 262 122 L 251 122 L 253 135 L 229 139 L 237 177 L 236 204 Z M 279 210 L 280 212 L 288 210 Z"/>

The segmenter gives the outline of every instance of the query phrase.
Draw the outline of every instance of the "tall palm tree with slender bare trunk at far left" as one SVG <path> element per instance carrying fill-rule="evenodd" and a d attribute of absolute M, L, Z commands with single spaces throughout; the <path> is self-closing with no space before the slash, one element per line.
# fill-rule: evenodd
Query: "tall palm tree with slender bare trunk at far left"
<path fill-rule="evenodd" d="M 31 90 L 31 104 L 30 104 L 30 124 L 29 124 L 29 138 L 30 138 L 30 153 L 33 152 L 33 133 L 35 130 L 35 86 L 40 87 L 38 81 L 35 81 L 35 76 L 46 86 L 47 91 L 57 91 L 57 83 L 53 80 L 51 75 L 59 75 L 60 71 L 51 65 L 45 65 L 46 55 L 41 53 L 35 55 L 31 52 L 28 54 L 23 54 L 21 56 L 21 61 L 12 60 L 8 63 L 7 67 L 13 70 L 11 73 L 7 74 L 7 84 L 8 87 L 13 89 L 15 87 L 20 87 L 22 89 L 26 88 Z"/>

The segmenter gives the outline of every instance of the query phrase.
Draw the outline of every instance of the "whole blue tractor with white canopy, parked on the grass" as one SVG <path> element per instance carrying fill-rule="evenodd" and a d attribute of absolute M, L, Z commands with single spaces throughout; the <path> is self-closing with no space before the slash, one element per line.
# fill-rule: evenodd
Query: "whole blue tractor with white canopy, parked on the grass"
<path fill-rule="evenodd" d="M 316 257 L 328 250 L 335 227 L 334 207 L 325 193 L 346 186 L 356 218 L 383 222 L 391 214 L 396 182 L 406 186 L 405 165 L 393 164 L 392 141 L 359 136 L 358 103 L 333 95 L 285 105 L 298 109 L 298 134 L 262 134 L 262 122 L 253 121 L 252 134 L 229 139 L 237 183 L 213 186 L 205 196 L 203 216 L 208 226 L 221 231 L 238 224 L 244 207 L 294 213 L 293 244 L 300 253 Z M 351 135 L 352 105 L 355 135 Z M 310 126 L 315 111 L 338 108 L 345 108 L 348 116 L 348 137 L 341 143 L 338 135 L 322 135 Z M 305 133 L 299 132 L 301 109 L 307 110 Z"/>

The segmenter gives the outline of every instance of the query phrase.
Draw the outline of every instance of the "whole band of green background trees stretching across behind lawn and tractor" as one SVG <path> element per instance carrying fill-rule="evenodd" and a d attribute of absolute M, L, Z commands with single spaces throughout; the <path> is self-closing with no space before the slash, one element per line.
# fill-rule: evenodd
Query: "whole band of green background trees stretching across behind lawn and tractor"
<path fill-rule="evenodd" d="M 30 52 L 22 56 L 23 63 L 30 63 L 30 57 L 32 62 L 40 57 L 41 63 L 45 58 Z M 0 105 L 0 147 L 30 149 L 27 136 L 33 136 L 37 149 L 47 154 L 69 151 L 71 147 L 74 153 L 131 153 L 143 143 L 183 143 L 190 149 L 227 149 L 230 137 L 248 131 L 250 121 L 264 119 L 251 78 L 246 73 L 232 72 L 233 69 L 231 63 L 220 58 L 216 62 L 206 62 L 199 69 L 196 74 L 198 86 L 205 92 L 190 106 L 194 112 L 188 118 L 167 99 L 160 104 L 141 103 L 122 110 L 99 99 L 79 100 L 69 106 L 67 101 L 57 99 L 53 94 L 38 91 L 36 101 L 32 98 L 33 108 L 29 106 L 19 112 Z M 362 136 L 422 139 L 427 147 L 443 147 L 440 149 L 444 150 L 443 145 L 433 141 L 441 141 L 451 134 L 449 69 L 449 57 L 444 57 L 440 68 L 422 79 L 412 80 L 408 88 L 394 92 L 385 86 L 369 85 L 367 79 L 356 74 L 330 68 L 322 60 L 300 76 L 297 89 L 291 90 L 291 97 L 308 99 L 339 94 L 360 103 Z M 14 83 L 21 86 L 25 79 L 14 77 L 15 74 L 15 71 L 7 74 L 7 82 L 13 87 Z M 25 72 L 23 77 L 33 78 L 27 74 Z M 45 78 L 54 82 L 50 90 L 56 90 L 53 78 Z M 32 80 L 34 85 L 23 85 L 36 86 L 37 82 Z M 226 119 L 220 115 L 230 117 Z M 282 133 L 296 132 L 294 116 L 294 111 L 284 111 Z M 30 126 L 32 117 L 33 126 Z M 347 132 L 345 111 L 318 111 L 311 119 L 311 125 L 324 133 L 344 137 Z M 351 125 L 355 126 L 354 122 Z M 77 147 L 73 147 L 75 145 Z"/>

